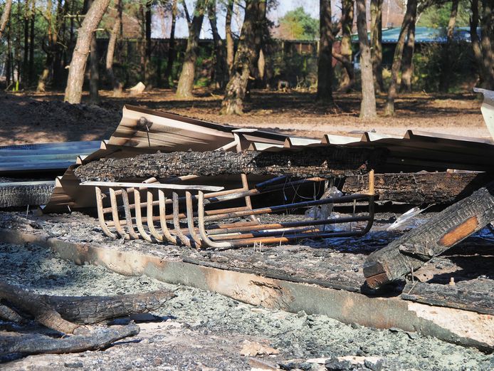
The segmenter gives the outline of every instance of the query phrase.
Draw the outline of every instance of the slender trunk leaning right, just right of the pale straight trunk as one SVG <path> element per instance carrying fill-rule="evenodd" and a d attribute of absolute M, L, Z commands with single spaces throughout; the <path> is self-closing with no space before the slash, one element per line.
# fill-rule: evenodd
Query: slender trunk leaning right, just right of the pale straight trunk
<path fill-rule="evenodd" d="M 415 23 L 417 13 L 417 0 L 409 0 L 406 4 L 406 13 L 401 24 L 398 42 L 394 49 L 393 65 L 391 66 L 391 83 L 389 83 L 385 115 L 394 115 L 394 99 L 396 98 L 396 87 L 398 85 L 399 70 L 401 69 L 401 58 L 405 46 L 406 35 L 412 23 Z"/>

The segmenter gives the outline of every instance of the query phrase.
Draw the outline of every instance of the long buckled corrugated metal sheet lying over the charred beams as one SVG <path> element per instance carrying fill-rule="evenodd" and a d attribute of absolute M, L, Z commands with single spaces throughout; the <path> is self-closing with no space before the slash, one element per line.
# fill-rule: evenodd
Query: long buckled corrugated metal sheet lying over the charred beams
<path fill-rule="evenodd" d="M 419 172 L 462 169 L 493 169 L 494 145 L 491 140 L 407 130 L 404 135 L 363 132 L 360 137 L 327 134 L 320 139 L 292 137 L 278 132 L 218 125 L 172 113 L 162 113 L 126 105 L 120 125 L 100 149 L 79 157 L 78 164 L 103 157 L 132 157 L 140 153 L 206 151 L 232 145 L 235 135 L 241 137 L 243 149 L 260 151 L 303 150 L 306 147 L 349 146 L 384 147 L 389 150 L 387 162 L 377 172 Z M 57 180 L 49 211 L 92 207 L 92 192 L 80 192 L 78 179 L 71 166 Z M 187 175 L 187 174 L 184 174 Z"/>

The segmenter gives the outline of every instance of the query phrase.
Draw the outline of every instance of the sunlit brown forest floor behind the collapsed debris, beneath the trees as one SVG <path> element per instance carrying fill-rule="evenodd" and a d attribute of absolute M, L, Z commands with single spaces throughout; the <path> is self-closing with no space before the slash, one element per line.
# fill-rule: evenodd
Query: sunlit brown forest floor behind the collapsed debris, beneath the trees
<path fill-rule="evenodd" d="M 172 90 L 151 90 L 139 96 L 124 93 L 112 98 L 101 91 L 98 105 L 63 103 L 63 92 L 0 93 L 0 145 L 103 140 L 110 137 L 125 104 L 165 110 L 201 120 L 239 127 L 274 129 L 290 135 L 320 138 L 324 134 L 359 136 L 363 131 L 404 135 L 422 130 L 450 135 L 488 138 L 475 94 L 400 94 L 396 116 L 372 120 L 358 117 L 360 95 L 335 93 L 335 105 L 315 103 L 313 93 L 254 90 L 241 116 L 219 115 L 221 96 L 211 90 L 194 91 L 193 100 L 177 100 Z M 377 99 L 382 113 L 384 95 Z"/>

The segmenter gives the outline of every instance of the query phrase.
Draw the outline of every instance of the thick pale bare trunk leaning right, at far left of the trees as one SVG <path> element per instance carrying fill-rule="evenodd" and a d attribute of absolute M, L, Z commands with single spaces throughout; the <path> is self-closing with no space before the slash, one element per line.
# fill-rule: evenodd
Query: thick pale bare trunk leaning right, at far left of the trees
<path fill-rule="evenodd" d="M 65 102 L 80 103 L 83 95 L 84 71 L 90 48 L 93 32 L 98 27 L 110 0 L 94 0 L 86 14 L 82 26 L 79 28 L 78 38 L 68 70 Z"/>

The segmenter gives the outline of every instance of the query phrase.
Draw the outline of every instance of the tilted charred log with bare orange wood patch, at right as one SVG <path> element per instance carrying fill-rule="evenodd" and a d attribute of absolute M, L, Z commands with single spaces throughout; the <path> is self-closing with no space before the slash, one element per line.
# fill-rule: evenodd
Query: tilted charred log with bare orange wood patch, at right
<path fill-rule="evenodd" d="M 364 263 L 367 285 L 378 288 L 423 266 L 494 220 L 494 182 L 374 251 Z"/>

